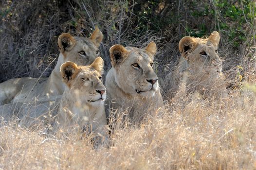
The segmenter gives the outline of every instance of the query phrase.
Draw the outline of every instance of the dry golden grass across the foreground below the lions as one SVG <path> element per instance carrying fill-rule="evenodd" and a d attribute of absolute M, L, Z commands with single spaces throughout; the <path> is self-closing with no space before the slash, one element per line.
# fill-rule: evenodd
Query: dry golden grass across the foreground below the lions
<path fill-rule="evenodd" d="M 8 124 L 0 128 L 0 168 L 256 169 L 255 94 L 236 91 L 226 103 L 173 102 L 140 127 L 116 128 L 113 146 L 99 150 L 74 134 L 55 138 Z"/>

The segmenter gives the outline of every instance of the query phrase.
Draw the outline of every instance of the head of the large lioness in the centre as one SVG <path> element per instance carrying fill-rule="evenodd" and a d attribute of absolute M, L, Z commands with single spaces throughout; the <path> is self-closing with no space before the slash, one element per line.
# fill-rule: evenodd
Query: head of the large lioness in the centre
<path fill-rule="evenodd" d="M 151 42 L 144 49 L 114 45 L 110 60 L 115 70 L 117 85 L 129 95 L 152 96 L 158 89 L 153 56 L 156 44 Z"/>

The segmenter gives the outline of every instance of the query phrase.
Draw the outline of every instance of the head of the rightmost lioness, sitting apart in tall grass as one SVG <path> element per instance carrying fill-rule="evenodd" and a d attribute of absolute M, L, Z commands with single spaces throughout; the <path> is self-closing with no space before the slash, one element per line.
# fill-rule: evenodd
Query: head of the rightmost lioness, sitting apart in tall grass
<path fill-rule="evenodd" d="M 218 45 L 219 33 L 214 31 L 209 38 L 183 37 L 179 50 L 194 71 L 206 68 L 221 73 L 222 60 L 219 58 Z"/>

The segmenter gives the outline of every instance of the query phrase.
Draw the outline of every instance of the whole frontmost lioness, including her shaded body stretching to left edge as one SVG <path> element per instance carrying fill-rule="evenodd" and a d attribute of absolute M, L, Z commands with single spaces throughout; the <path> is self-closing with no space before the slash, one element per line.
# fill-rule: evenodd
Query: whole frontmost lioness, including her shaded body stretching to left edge
<path fill-rule="evenodd" d="M 20 121 L 20 126 L 22 123 L 22 125 L 26 127 L 29 125 L 29 128 L 32 128 L 39 124 L 37 122 L 39 117 L 39 119 L 46 121 L 46 117 L 51 112 L 51 117 L 55 117 L 54 132 L 58 130 L 71 132 L 78 125 L 78 130 L 89 129 L 89 132 L 95 135 L 94 146 L 107 145 L 109 136 L 104 107 L 106 88 L 101 77 L 103 66 L 101 57 L 97 57 L 90 66 L 77 66 L 73 62 L 65 62 L 60 67 L 60 74 L 67 88 L 65 88 L 61 98 L 56 98 L 54 104 L 40 102 L 40 104 L 33 106 L 30 103 L 22 103 L 20 107 L 8 103 L 0 106 L 0 115 L 5 119 L 16 117 Z M 15 115 L 12 114 L 14 109 L 18 109 Z M 34 115 L 29 116 L 30 120 L 28 119 L 28 111 L 34 113 Z"/>

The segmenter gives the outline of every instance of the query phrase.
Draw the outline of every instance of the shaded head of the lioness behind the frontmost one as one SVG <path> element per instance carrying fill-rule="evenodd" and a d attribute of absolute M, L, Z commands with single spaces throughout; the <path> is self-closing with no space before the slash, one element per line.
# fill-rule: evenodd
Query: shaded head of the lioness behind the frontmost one
<path fill-rule="evenodd" d="M 91 64 L 95 58 L 100 56 L 99 46 L 103 35 L 101 31 L 96 30 L 89 38 L 72 36 L 68 33 L 63 33 L 58 37 L 58 46 L 64 61 L 72 61 L 77 65 L 86 66 Z"/>

